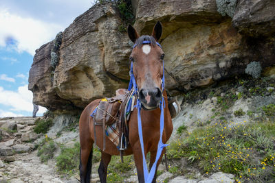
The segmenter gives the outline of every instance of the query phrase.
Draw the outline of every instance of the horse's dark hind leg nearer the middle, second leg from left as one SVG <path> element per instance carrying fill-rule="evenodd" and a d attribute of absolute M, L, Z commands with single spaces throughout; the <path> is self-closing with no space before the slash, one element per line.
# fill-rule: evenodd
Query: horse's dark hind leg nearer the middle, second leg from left
<path fill-rule="evenodd" d="M 107 167 L 108 167 L 110 160 L 111 160 L 111 155 L 106 154 L 103 151 L 101 151 L 101 161 L 100 161 L 100 165 L 98 167 L 98 175 L 99 175 L 101 183 L 106 182 Z"/>

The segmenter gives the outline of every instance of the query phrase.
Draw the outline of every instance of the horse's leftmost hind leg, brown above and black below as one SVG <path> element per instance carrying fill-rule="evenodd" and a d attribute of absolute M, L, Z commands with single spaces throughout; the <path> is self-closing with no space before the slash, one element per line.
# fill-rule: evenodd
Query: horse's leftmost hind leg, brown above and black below
<path fill-rule="evenodd" d="M 91 179 L 91 158 L 93 157 L 93 144 L 91 142 L 80 147 L 80 182 L 89 183 Z"/>

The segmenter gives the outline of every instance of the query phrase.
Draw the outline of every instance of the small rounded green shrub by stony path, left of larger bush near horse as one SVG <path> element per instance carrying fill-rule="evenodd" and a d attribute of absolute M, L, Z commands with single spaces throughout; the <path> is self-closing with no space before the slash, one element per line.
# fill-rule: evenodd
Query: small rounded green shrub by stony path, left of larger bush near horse
<path fill-rule="evenodd" d="M 56 144 L 51 138 L 45 138 L 38 148 L 37 156 L 40 157 L 41 162 L 47 162 L 54 157 L 54 151 L 56 151 Z"/>

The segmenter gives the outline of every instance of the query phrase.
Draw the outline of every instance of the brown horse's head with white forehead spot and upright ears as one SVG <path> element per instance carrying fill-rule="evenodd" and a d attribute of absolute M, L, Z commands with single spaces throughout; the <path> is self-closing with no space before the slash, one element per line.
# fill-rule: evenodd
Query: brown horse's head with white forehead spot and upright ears
<path fill-rule="evenodd" d="M 128 35 L 135 43 L 130 60 L 133 62 L 138 97 L 143 108 L 153 110 L 159 106 L 163 91 L 164 51 L 157 42 L 162 36 L 162 24 L 155 24 L 152 36 L 138 36 L 135 29 L 129 25 Z"/>

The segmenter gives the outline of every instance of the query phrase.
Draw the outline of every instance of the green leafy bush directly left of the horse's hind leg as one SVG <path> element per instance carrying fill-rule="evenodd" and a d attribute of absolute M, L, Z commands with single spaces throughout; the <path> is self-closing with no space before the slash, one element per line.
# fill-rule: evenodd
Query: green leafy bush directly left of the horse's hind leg
<path fill-rule="evenodd" d="M 74 147 L 61 147 L 61 154 L 56 157 L 56 167 L 62 173 L 72 173 L 77 171 L 79 164 L 80 143 L 75 143 Z"/>

